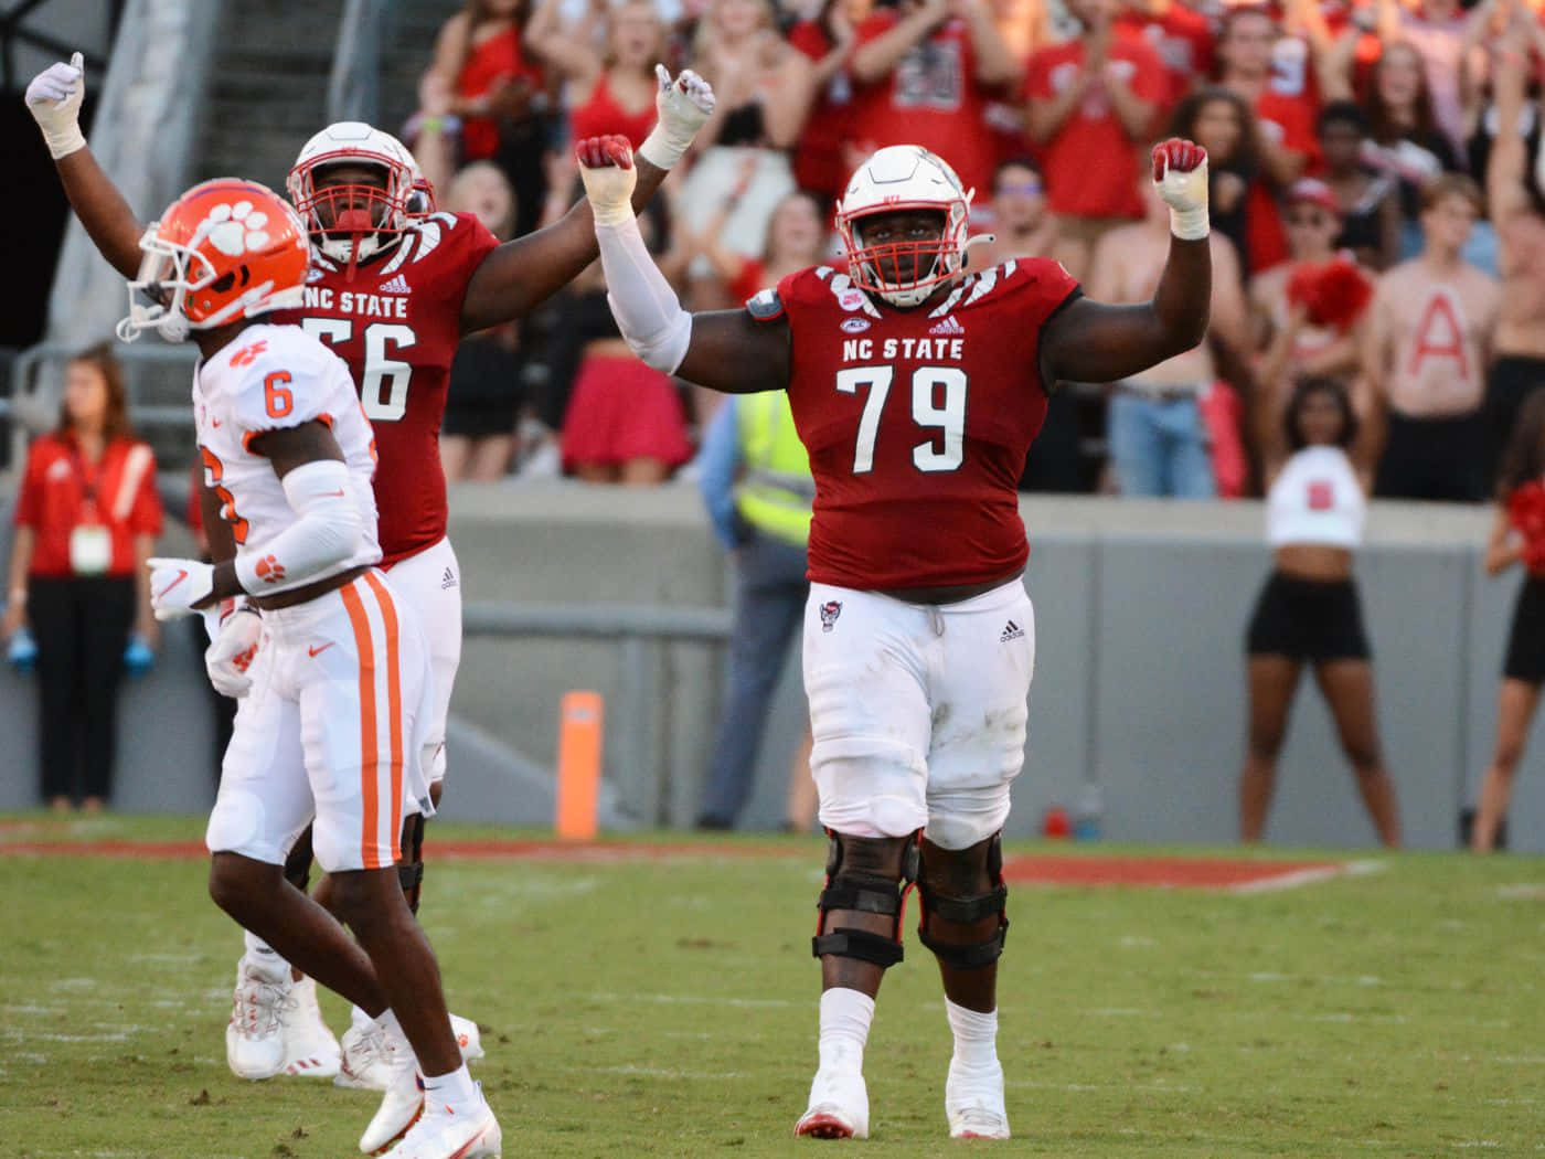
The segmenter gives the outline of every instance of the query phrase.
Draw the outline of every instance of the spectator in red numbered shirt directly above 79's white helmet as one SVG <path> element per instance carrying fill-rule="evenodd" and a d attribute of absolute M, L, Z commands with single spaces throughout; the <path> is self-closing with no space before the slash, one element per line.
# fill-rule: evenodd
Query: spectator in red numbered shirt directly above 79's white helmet
<path fill-rule="evenodd" d="M 850 162 L 887 145 L 921 145 L 949 161 L 966 189 L 986 195 L 998 161 L 987 105 L 1020 66 L 984 0 L 901 0 L 879 9 L 859 25 L 850 71 L 857 155 Z"/>

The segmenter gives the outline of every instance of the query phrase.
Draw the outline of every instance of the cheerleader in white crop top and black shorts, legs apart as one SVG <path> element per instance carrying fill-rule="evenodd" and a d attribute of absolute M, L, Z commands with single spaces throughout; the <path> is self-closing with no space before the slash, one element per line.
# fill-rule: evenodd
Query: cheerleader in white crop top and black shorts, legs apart
<path fill-rule="evenodd" d="M 1250 737 L 1239 776 L 1239 830 L 1259 841 L 1276 785 L 1276 759 L 1304 663 L 1313 666 L 1341 748 L 1378 838 L 1400 844 L 1395 787 L 1380 754 L 1374 666 L 1352 578 L 1363 541 L 1367 470 L 1347 450 L 1357 414 L 1335 379 L 1304 379 L 1279 431 L 1262 431 L 1267 462 L 1281 462 L 1267 493 L 1267 541 L 1276 567 L 1250 620 Z M 1285 440 L 1285 447 L 1282 447 Z M 1278 451 L 1278 453 L 1273 453 Z"/>

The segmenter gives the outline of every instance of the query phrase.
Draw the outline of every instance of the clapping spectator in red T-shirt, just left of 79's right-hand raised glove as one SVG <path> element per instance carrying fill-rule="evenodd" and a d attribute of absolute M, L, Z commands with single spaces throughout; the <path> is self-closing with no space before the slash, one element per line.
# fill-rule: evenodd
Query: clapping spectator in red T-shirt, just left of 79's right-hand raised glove
<path fill-rule="evenodd" d="M 1115 0 L 1069 0 L 1083 31 L 1043 48 L 1026 77 L 1031 139 L 1044 150 L 1052 212 L 1086 246 L 1143 216 L 1139 147 L 1170 93 L 1159 54 L 1112 23 Z"/>

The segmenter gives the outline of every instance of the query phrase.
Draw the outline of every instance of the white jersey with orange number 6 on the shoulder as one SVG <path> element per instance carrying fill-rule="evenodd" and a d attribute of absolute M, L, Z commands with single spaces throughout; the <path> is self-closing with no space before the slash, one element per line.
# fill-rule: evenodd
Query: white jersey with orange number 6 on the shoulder
<path fill-rule="evenodd" d="M 236 555 L 261 555 L 297 521 L 273 464 L 249 450 L 264 431 L 320 419 L 332 428 L 349 468 L 349 498 L 365 535 L 358 550 L 335 567 L 309 575 L 312 584 L 360 564 L 380 561 L 375 536 L 375 440 L 349 368 L 300 326 L 258 325 L 241 331 L 193 372 L 193 413 L 205 485 L 219 496 Z M 261 563 L 258 573 L 263 573 Z M 278 578 L 264 595 L 303 584 Z"/>

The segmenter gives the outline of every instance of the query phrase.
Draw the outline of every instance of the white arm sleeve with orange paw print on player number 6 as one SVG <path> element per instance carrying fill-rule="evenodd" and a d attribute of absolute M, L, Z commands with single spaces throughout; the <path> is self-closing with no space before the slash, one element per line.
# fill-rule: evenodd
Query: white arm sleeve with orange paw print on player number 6
<path fill-rule="evenodd" d="M 318 459 L 292 470 L 281 481 L 284 498 L 300 518 L 261 550 L 236 559 L 236 581 L 244 592 L 273 590 L 311 580 L 352 556 L 365 533 L 360 507 L 351 496 L 349 468 L 335 459 Z M 269 561 L 264 573 L 258 563 Z M 275 567 L 277 563 L 277 567 Z"/>

